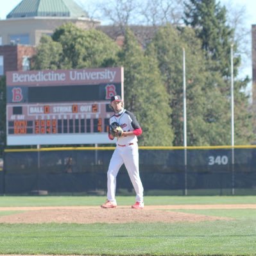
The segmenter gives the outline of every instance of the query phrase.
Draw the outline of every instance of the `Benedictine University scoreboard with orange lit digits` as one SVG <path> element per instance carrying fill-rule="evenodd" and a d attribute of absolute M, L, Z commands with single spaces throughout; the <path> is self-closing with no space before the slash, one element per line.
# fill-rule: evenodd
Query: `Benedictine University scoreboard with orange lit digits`
<path fill-rule="evenodd" d="M 123 67 L 6 74 L 8 145 L 107 144 Z"/>

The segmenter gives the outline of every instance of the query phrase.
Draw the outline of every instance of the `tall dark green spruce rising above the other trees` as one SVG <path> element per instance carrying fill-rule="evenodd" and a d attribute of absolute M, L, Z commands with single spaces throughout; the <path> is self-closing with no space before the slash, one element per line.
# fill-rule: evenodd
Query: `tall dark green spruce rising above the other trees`
<path fill-rule="evenodd" d="M 207 60 L 213 60 L 212 71 L 230 77 L 230 46 L 234 44 L 234 29 L 226 24 L 226 8 L 216 0 L 189 0 L 185 3 L 185 24 L 192 26 L 201 39 L 201 47 Z M 234 60 L 234 72 L 240 58 Z"/>

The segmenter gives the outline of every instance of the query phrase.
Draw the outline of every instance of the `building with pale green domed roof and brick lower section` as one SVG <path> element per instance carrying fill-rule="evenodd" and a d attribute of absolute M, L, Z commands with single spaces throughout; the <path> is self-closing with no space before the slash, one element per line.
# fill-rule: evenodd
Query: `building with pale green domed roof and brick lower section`
<path fill-rule="evenodd" d="M 65 22 L 83 29 L 100 24 L 74 0 L 22 0 L 0 20 L 0 76 L 6 71 L 28 70 L 42 35 L 53 34 Z"/>

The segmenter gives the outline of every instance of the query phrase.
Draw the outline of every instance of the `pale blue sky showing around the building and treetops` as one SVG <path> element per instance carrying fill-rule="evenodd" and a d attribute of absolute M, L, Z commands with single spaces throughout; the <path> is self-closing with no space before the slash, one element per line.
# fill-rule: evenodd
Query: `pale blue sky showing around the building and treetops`
<path fill-rule="evenodd" d="M 83 6 L 86 6 L 90 3 L 92 3 L 93 0 L 76 0 L 77 3 L 82 4 Z M 107 0 L 105 0 L 107 1 Z M 0 19 L 6 19 L 6 15 L 10 13 L 17 4 L 21 3 L 21 0 L 7 0 L 7 1 L 1 1 L 1 7 L 0 7 Z M 216 1 L 217 2 L 217 1 Z M 246 12 L 246 15 L 244 15 L 244 25 L 248 30 L 250 30 L 252 24 L 256 24 L 256 1 L 255 0 L 220 0 L 220 3 L 225 6 L 232 6 L 232 8 L 242 8 L 244 7 L 244 12 Z M 249 40 L 250 41 L 250 40 Z M 248 49 L 252 49 L 251 42 L 248 43 Z M 241 76 L 248 75 L 250 78 L 252 78 L 252 61 L 250 58 L 247 58 L 247 60 L 243 60 L 244 63 L 243 69 L 241 71 Z"/>

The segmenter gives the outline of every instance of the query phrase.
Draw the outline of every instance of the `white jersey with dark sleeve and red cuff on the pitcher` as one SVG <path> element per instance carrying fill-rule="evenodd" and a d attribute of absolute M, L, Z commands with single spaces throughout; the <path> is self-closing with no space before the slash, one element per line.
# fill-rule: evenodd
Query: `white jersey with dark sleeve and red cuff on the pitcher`
<path fill-rule="evenodd" d="M 114 122 L 119 123 L 124 132 L 133 131 L 133 136 L 117 138 L 118 144 L 126 145 L 138 141 L 137 136 L 141 135 L 142 128 L 132 112 L 124 109 L 123 112 L 112 115 L 109 119 L 109 123 L 112 124 Z"/>

